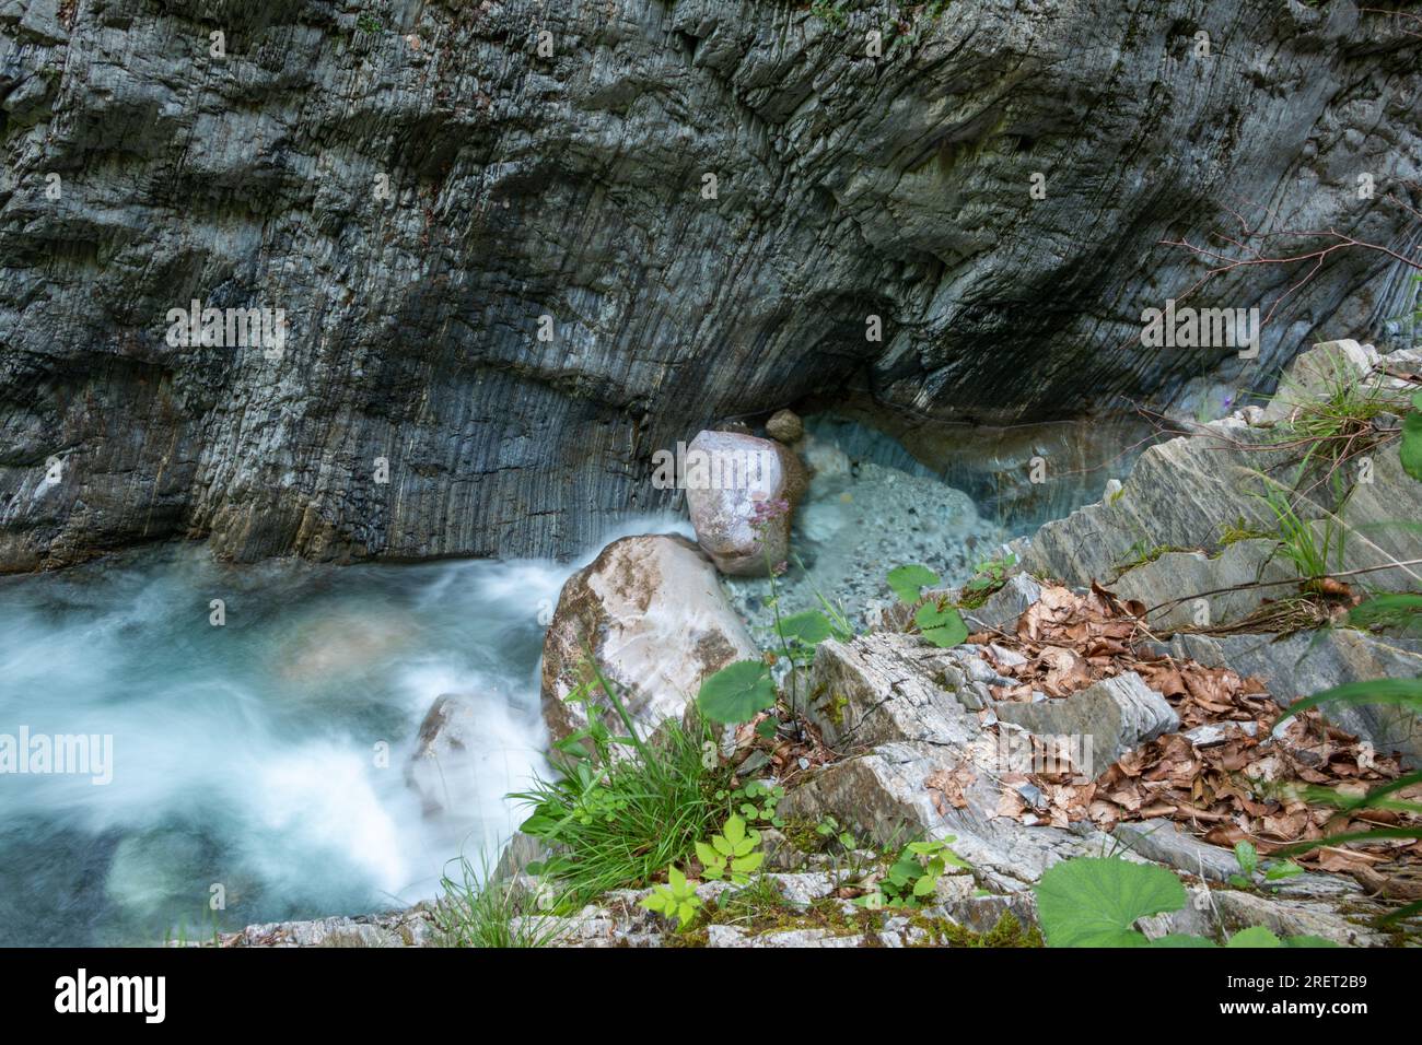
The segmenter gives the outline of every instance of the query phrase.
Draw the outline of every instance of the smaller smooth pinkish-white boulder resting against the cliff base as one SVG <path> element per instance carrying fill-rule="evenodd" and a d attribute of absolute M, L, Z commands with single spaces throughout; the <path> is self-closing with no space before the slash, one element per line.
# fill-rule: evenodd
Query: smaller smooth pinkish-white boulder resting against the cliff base
<path fill-rule="evenodd" d="M 784 445 L 739 432 L 701 432 L 681 481 L 697 542 L 721 573 L 764 577 L 785 562 L 805 469 Z"/>

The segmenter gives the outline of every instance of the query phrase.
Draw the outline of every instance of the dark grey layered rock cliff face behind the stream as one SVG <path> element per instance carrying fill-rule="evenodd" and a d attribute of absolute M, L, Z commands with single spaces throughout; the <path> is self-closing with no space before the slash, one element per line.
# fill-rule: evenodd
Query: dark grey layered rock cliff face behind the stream
<path fill-rule="evenodd" d="M 563 553 L 717 418 L 1241 365 L 1139 343 L 1203 272 L 1158 242 L 1224 206 L 1415 246 L 1418 38 L 1342 0 L 3 0 L 0 34 L 3 569 Z M 1409 293 L 1340 252 L 1241 380 Z M 284 310 L 283 351 L 169 344 L 192 300 Z"/>

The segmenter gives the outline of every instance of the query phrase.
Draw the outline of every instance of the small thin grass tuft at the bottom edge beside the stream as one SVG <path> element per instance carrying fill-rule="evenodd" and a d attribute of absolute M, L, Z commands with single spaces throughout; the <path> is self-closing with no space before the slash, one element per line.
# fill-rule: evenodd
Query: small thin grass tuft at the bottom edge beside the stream
<path fill-rule="evenodd" d="M 545 947 L 557 936 L 557 921 L 529 910 L 533 897 L 512 879 L 492 880 L 488 864 L 475 874 L 459 857 L 459 877 L 445 870 L 441 897 L 434 907 L 435 937 L 441 947 Z"/>

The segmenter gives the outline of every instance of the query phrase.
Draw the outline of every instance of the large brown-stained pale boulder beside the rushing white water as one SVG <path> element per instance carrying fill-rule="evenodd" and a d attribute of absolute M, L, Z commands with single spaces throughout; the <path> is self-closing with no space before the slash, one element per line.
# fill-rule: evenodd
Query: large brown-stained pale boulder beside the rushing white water
<path fill-rule="evenodd" d="M 589 654 L 647 736 L 685 715 L 707 675 L 759 650 L 711 562 L 684 537 L 644 535 L 614 540 L 563 586 L 543 640 L 543 719 L 555 739 L 587 725 L 587 705 L 567 697 L 593 680 Z M 606 697 L 596 700 L 626 732 Z"/>

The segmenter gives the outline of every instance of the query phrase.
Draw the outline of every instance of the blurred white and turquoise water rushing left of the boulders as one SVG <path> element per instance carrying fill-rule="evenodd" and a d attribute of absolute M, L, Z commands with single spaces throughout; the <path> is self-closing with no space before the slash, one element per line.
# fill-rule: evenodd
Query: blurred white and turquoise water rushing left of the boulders
<path fill-rule="evenodd" d="M 670 530 L 688 527 L 607 539 Z M 459 853 L 496 859 L 522 815 L 503 796 L 542 768 L 539 614 L 580 564 L 232 567 L 169 546 L 0 579 L 0 738 L 112 738 L 107 785 L 0 772 L 0 944 L 380 910 L 435 894 Z M 404 769 L 441 692 L 475 702 L 479 799 L 429 819 Z"/>

